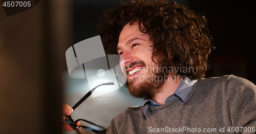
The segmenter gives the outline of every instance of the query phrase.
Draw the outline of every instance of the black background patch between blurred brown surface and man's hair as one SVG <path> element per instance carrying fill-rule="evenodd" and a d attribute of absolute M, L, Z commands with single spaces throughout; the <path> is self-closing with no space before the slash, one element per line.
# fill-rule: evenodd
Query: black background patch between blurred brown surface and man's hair
<path fill-rule="evenodd" d="M 74 0 L 74 43 L 96 36 L 96 25 L 102 13 L 109 10 L 112 0 Z M 117 2 L 119 3 L 119 2 Z M 115 3 L 114 3 L 115 4 Z"/>

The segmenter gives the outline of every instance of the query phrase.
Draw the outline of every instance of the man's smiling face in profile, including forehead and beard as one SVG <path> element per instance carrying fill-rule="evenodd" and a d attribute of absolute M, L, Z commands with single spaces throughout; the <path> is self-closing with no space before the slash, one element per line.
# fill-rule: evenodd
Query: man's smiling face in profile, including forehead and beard
<path fill-rule="evenodd" d="M 156 77 L 152 61 L 153 41 L 150 36 L 141 33 L 138 23 L 126 24 L 120 35 L 117 51 L 123 58 L 126 68 L 127 86 L 134 97 L 154 97 L 157 93 Z"/>

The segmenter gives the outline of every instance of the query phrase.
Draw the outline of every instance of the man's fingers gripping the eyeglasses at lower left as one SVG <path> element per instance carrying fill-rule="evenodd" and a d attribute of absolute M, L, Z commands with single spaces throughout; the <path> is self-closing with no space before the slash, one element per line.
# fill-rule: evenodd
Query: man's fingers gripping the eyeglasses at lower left
<path fill-rule="evenodd" d="M 67 104 L 62 105 L 62 114 L 63 115 L 71 115 L 72 112 L 73 112 L 73 109 L 69 105 L 67 105 Z M 65 131 L 73 131 L 74 130 L 69 126 L 69 124 L 67 122 L 64 122 L 65 116 L 62 116 L 62 121 L 63 121 L 62 133 L 64 133 Z M 80 126 L 81 123 L 77 122 L 76 125 Z"/>

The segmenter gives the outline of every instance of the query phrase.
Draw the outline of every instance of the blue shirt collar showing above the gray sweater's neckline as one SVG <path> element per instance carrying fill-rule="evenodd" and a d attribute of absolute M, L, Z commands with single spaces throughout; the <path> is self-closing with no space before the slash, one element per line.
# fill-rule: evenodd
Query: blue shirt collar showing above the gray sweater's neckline
<path fill-rule="evenodd" d="M 188 77 L 183 78 L 182 82 L 180 83 L 179 87 L 176 89 L 174 94 L 167 97 L 164 103 L 167 103 L 176 97 L 178 97 L 182 101 L 182 104 L 187 103 L 188 100 L 193 95 L 196 86 L 197 86 L 197 79 L 193 80 Z M 148 112 L 148 110 L 150 110 L 150 105 L 157 106 L 160 104 L 151 99 L 144 99 L 143 105 L 142 105 L 142 111 L 146 117 L 147 117 L 146 113 Z"/>

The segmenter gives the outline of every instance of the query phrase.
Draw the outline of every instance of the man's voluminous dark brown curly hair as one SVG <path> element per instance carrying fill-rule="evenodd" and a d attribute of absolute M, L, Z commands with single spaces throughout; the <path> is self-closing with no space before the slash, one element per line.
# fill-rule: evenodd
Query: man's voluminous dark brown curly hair
<path fill-rule="evenodd" d="M 177 3 L 129 1 L 104 12 L 98 34 L 107 54 L 117 54 L 119 34 L 126 24 L 138 22 L 140 32 L 153 40 L 152 60 L 162 67 L 178 68 L 176 75 L 200 79 L 208 69 L 211 36 L 206 18 Z M 186 69 L 186 70 L 185 70 Z"/>

